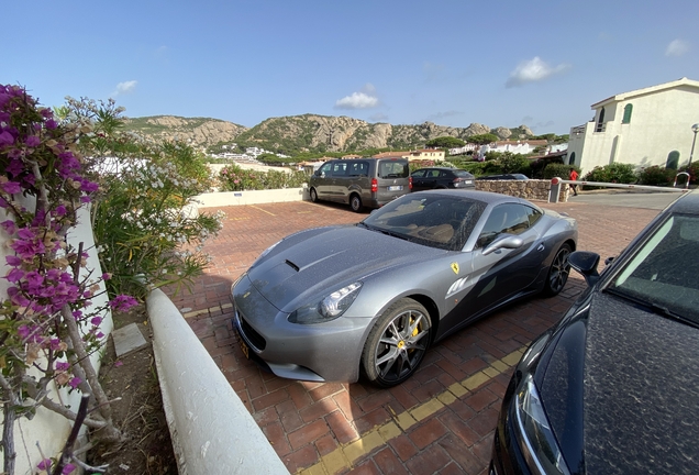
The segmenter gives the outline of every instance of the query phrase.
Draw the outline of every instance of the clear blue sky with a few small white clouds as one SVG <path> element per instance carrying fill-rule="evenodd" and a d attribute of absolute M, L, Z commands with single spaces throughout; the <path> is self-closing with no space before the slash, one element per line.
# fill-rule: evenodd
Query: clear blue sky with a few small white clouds
<path fill-rule="evenodd" d="M 0 84 L 127 117 L 565 134 L 610 96 L 699 80 L 697 0 L 0 0 Z"/>

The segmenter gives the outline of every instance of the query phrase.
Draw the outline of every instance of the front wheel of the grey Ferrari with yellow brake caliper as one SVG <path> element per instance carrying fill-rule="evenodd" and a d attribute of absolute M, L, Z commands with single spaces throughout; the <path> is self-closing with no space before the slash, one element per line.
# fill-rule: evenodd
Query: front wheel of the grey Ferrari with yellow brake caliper
<path fill-rule="evenodd" d="M 391 305 L 376 321 L 362 352 L 366 378 L 391 387 L 418 369 L 430 345 L 432 325 L 425 308 L 410 298 Z"/>

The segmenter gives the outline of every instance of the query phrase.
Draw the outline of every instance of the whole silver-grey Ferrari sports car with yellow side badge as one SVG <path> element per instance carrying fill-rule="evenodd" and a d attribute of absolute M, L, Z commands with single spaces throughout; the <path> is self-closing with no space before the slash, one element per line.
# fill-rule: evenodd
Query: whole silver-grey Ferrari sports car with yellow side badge
<path fill-rule="evenodd" d="M 267 248 L 233 284 L 233 325 L 245 356 L 278 376 L 395 386 L 432 343 L 558 294 L 577 235 L 574 219 L 520 198 L 412 192 Z"/>

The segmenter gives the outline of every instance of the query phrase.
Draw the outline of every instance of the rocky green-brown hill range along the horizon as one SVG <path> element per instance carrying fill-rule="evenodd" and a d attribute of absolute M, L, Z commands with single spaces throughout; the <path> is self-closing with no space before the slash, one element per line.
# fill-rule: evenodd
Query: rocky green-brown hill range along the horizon
<path fill-rule="evenodd" d="M 490 129 L 478 123 L 471 123 L 467 128 L 451 128 L 432 122 L 391 125 L 368 123 L 348 117 L 315 114 L 271 118 L 252 129 L 217 119 L 155 115 L 129 119 L 126 128 L 144 136 L 184 140 L 195 146 L 212 147 L 236 143 L 287 155 L 299 152 L 415 148 L 439 136 L 466 140 L 471 135 L 492 133 L 503 140 L 517 140 L 533 135 L 525 125 L 517 129 Z"/>

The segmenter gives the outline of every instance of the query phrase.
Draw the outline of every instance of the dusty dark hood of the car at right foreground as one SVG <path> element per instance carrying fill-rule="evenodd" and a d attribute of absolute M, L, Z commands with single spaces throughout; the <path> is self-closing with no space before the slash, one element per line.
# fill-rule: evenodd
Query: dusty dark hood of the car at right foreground
<path fill-rule="evenodd" d="M 586 472 L 696 473 L 698 374 L 699 330 L 596 294 L 585 356 Z"/>

